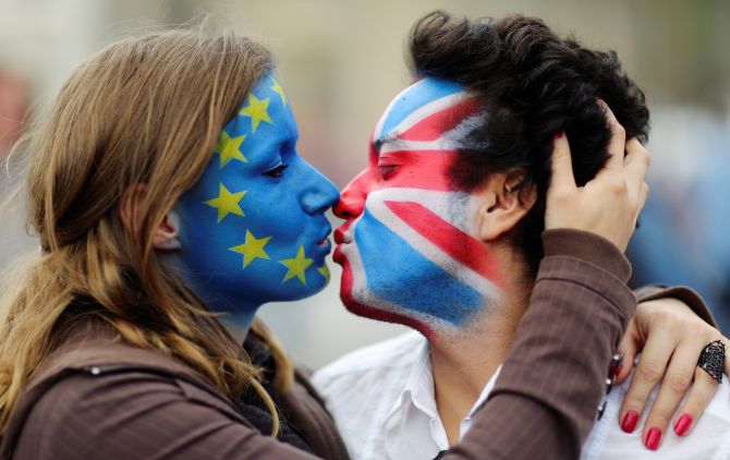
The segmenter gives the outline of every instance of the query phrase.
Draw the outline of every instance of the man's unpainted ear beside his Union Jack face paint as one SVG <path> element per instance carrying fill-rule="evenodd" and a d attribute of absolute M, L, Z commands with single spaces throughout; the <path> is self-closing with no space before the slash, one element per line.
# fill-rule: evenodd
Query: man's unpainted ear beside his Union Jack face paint
<path fill-rule="evenodd" d="M 495 241 L 512 230 L 534 206 L 537 192 L 534 185 L 521 185 L 523 172 L 491 174 L 479 192 L 477 226 L 482 241 Z"/>

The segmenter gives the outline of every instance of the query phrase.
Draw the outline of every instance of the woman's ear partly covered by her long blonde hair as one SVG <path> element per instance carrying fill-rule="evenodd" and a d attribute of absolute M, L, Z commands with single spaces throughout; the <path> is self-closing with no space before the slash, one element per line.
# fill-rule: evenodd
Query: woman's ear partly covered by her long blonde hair
<path fill-rule="evenodd" d="M 126 189 L 119 203 L 119 215 L 126 231 L 134 234 L 139 228 L 139 203 L 147 193 L 146 184 L 135 184 Z M 179 250 L 180 235 L 178 233 L 178 216 L 173 210 L 168 211 L 155 229 L 153 246 L 156 250 Z"/>

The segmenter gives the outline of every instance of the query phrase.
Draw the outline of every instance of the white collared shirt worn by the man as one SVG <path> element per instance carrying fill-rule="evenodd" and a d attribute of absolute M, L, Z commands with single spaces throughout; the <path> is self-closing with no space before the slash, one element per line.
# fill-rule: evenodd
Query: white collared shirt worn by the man
<path fill-rule="evenodd" d="M 462 420 L 462 437 L 498 374 L 499 371 Z M 415 331 L 354 351 L 315 373 L 313 383 L 325 398 L 353 459 L 430 460 L 449 448 L 436 410 L 428 342 Z M 680 438 L 670 426 L 657 451 L 642 443 L 643 421 L 632 434 L 619 427 L 619 409 L 628 389 L 629 380 L 607 396 L 606 411 L 585 441 L 582 459 L 730 460 L 727 378 L 692 433 Z M 655 396 L 656 390 L 649 402 Z"/>

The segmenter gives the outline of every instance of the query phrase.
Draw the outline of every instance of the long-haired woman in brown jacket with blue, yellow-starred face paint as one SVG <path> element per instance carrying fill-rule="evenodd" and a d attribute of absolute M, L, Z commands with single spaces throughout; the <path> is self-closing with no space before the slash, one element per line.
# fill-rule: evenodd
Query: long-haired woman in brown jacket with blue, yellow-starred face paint
<path fill-rule="evenodd" d="M 2 458 L 348 458 L 306 378 L 255 317 L 263 303 L 326 285 L 324 214 L 338 199 L 299 157 L 271 71 L 269 53 L 244 37 L 170 32 L 110 45 L 62 88 L 27 144 L 41 251 L 2 303 Z M 636 196 L 591 204 L 620 217 L 618 246 L 640 207 Z M 585 228 L 580 219 L 555 227 Z M 608 265 L 622 263 L 609 253 Z M 591 318 L 595 348 L 562 352 L 572 370 L 587 363 L 581 385 L 594 395 L 635 306 L 625 285 L 611 286 L 604 300 L 561 305 L 552 332 Z M 537 298 L 524 322 L 555 307 Z M 519 411 L 490 412 L 490 401 L 447 457 L 485 458 L 487 446 L 498 455 L 496 435 L 522 421 L 595 416 L 556 412 L 540 399 L 548 388 L 521 391 L 494 399 Z M 562 446 L 543 449 L 560 457 Z"/>

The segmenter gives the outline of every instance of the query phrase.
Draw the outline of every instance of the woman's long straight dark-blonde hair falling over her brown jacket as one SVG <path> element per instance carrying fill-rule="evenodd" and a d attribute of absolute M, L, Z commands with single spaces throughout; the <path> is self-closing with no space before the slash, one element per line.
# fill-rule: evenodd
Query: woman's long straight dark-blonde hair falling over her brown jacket
<path fill-rule="evenodd" d="M 174 31 L 117 41 L 63 86 L 26 140 L 28 223 L 42 252 L 0 304 L 0 431 L 53 350 L 62 315 L 82 303 L 122 340 L 183 361 L 231 398 L 252 386 L 278 432 L 261 371 L 153 247 L 223 124 L 271 69 L 270 53 L 245 37 Z M 131 233 L 119 206 L 138 184 L 145 193 Z M 284 391 L 291 363 L 260 322 L 252 332 L 272 350 L 273 387 Z"/>

